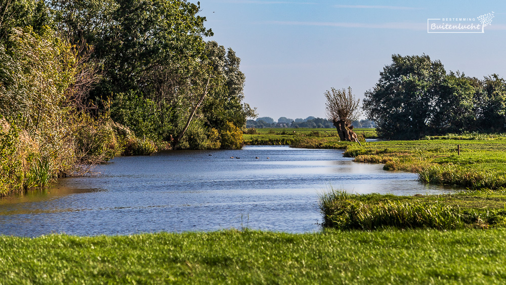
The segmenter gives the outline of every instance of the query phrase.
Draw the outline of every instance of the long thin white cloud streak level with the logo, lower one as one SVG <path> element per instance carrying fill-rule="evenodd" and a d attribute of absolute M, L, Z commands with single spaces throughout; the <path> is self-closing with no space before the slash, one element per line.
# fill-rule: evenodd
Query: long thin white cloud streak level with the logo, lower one
<path fill-rule="evenodd" d="M 353 23 L 353 22 L 296 22 L 296 21 L 265 21 L 265 24 L 292 25 L 292 26 L 322 26 L 343 28 L 369 28 L 369 29 L 402 29 L 427 30 L 427 23 Z"/>

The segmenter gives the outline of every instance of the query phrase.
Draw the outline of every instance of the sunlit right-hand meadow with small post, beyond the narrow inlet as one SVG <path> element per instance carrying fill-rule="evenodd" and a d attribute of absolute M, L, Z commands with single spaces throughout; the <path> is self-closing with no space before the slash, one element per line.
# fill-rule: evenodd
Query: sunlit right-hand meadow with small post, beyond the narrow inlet
<path fill-rule="evenodd" d="M 386 170 L 418 173 L 423 182 L 478 188 L 506 187 L 506 140 L 380 141 L 347 145 L 358 162 L 385 164 Z M 460 146 L 460 155 L 457 154 Z"/>

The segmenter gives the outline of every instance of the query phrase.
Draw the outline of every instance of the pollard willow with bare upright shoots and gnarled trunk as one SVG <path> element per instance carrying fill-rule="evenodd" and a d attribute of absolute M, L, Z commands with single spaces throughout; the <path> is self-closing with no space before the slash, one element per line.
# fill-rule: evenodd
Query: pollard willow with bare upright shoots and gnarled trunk
<path fill-rule="evenodd" d="M 325 92 L 325 98 L 327 119 L 332 121 L 342 141 L 351 141 L 349 128 L 360 116 L 360 99 L 355 99 L 351 87 L 348 87 L 348 92 L 344 88 L 331 88 Z"/>

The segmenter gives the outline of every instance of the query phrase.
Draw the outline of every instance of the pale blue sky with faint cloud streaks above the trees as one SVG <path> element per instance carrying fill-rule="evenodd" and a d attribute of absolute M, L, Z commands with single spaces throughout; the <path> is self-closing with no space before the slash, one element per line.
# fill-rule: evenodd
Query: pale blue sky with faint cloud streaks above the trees
<path fill-rule="evenodd" d="M 447 71 L 506 77 L 504 1 L 201 0 L 216 40 L 241 58 L 259 116 L 325 116 L 323 93 L 364 97 L 392 54 L 427 54 Z M 428 33 L 427 19 L 494 12 L 484 33 Z"/>

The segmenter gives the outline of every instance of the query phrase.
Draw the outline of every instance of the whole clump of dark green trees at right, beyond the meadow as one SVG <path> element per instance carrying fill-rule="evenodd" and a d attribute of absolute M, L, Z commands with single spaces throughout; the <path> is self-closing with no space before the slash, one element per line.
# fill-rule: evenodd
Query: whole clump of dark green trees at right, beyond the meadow
<path fill-rule="evenodd" d="M 429 56 L 392 56 L 363 108 L 380 137 L 417 139 L 466 131 L 506 130 L 506 83 L 446 72 Z"/>

